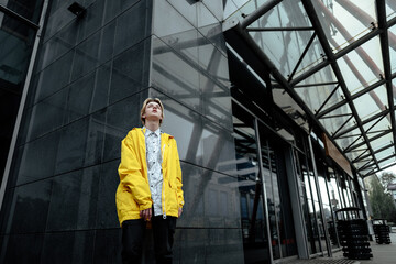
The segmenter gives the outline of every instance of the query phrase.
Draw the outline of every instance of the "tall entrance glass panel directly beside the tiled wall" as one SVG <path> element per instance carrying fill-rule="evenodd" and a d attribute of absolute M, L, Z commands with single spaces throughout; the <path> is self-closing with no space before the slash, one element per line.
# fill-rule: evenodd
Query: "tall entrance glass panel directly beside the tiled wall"
<path fill-rule="evenodd" d="M 253 117 L 232 106 L 244 263 L 270 262 Z"/>

